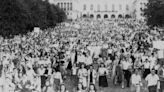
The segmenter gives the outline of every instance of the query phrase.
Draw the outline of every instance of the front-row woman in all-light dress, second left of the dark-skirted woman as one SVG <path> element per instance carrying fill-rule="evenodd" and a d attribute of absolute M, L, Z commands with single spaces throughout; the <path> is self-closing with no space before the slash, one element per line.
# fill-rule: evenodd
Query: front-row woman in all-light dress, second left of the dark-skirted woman
<path fill-rule="evenodd" d="M 81 68 L 78 70 L 78 78 L 79 82 L 82 83 L 83 87 L 87 87 L 87 69 L 85 69 L 85 65 L 82 64 Z"/>

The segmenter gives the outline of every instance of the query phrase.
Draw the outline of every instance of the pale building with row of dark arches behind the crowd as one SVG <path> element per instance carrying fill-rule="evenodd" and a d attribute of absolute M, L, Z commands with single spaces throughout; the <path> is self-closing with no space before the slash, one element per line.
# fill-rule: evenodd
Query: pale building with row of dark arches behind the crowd
<path fill-rule="evenodd" d="M 66 12 L 68 19 L 143 19 L 142 9 L 147 0 L 49 0 Z"/>

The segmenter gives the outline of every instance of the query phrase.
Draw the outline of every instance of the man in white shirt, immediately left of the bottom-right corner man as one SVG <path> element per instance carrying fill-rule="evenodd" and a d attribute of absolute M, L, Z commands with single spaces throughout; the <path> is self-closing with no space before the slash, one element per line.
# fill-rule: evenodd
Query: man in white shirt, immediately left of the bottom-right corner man
<path fill-rule="evenodd" d="M 131 92 L 140 92 L 141 75 L 139 75 L 138 69 L 135 69 L 135 73 L 131 77 Z"/>

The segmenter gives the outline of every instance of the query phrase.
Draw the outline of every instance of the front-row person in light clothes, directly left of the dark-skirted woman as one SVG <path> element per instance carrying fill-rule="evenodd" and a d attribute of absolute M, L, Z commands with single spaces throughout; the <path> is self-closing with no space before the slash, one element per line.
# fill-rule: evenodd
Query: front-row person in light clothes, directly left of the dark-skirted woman
<path fill-rule="evenodd" d="M 90 84 L 96 84 L 96 78 L 97 78 L 97 72 L 93 68 L 92 65 L 90 65 L 90 69 L 88 70 L 88 86 Z"/>

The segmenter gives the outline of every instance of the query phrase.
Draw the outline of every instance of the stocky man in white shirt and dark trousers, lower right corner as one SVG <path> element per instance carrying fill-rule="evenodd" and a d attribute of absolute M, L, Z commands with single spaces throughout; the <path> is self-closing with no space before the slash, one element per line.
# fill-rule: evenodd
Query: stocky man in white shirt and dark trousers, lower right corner
<path fill-rule="evenodd" d="M 147 87 L 149 92 L 157 92 L 159 89 L 159 76 L 155 74 L 155 70 L 151 70 L 151 74 L 148 74 L 145 78 L 147 81 Z"/>

